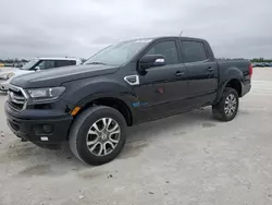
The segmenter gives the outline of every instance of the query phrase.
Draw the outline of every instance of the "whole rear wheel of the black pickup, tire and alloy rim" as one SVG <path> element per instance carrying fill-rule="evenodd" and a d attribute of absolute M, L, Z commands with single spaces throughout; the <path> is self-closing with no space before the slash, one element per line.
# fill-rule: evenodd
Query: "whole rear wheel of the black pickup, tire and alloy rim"
<path fill-rule="evenodd" d="M 231 121 L 237 114 L 239 107 L 239 96 L 231 87 L 226 87 L 220 101 L 212 106 L 212 112 L 215 119 L 221 121 Z"/>

